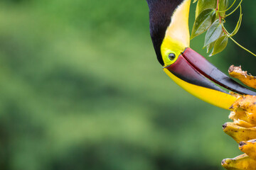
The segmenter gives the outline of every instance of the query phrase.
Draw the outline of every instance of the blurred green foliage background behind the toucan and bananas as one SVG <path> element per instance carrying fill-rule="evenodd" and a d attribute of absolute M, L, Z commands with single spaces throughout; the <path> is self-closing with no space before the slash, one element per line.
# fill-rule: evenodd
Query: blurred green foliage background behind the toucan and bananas
<path fill-rule="evenodd" d="M 255 5 L 235 37 L 252 51 Z M 1 170 L 210 170 L 240 154 L 221 127 L 229 112 L 162 71 L 148 18 L 146 0 L 0 1 Z M 207 56 L 203 36 L 191 46 Z M 256 73 L 231 41 L 207 59 Z"/>

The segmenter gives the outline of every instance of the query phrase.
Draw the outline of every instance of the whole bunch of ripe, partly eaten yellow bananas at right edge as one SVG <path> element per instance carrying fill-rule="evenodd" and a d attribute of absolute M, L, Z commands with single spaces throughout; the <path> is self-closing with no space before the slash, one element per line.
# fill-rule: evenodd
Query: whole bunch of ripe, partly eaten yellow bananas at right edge
<path fill-rule="evenodd" d="M 256 77 L 242 71 L 241 67 L 232 65 L 228 72 L 231 77 L 256 89 Z M 229 118 L 233 123 L 225 123 L 223 131 L 239 143 L 239 149 L 245 154 L 223 159 L 221 164 L 229 170 L 256 170 L 256 96 L 231 94 L 238 98 L 230 108 Z"/>

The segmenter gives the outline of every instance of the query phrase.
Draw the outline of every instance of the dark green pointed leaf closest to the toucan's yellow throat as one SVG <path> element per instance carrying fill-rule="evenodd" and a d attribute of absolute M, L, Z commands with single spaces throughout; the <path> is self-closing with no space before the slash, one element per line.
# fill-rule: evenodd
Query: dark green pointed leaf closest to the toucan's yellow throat
<path fill-rule="evenodd" d="M 213 23 L 215 18 L 215 8 L 209 8 L 202 11 L 199 16 L 196 18 L 196 21 L 193 25 L 191 39 L 195 38 L 197 35 L 201 35 L 206 32 L 210 25 Z"/>

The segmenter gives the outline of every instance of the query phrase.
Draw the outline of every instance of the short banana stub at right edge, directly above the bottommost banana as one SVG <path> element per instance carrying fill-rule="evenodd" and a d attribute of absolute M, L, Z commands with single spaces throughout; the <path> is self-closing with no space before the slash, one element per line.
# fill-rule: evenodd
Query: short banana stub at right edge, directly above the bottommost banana
<path fill-rule="evenodd" d="M 256 160 L 256 140 L 243 141 L 239 143 L 239 149 L 250 158 Z"/>

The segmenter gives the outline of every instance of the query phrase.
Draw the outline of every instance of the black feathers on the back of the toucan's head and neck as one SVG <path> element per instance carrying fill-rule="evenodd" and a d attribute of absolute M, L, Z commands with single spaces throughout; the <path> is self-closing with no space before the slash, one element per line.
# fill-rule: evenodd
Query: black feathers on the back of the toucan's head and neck
<path fill-rule="evenodd" d="M 161 65 L 164 61 L 161 57 L 161 43 L 164 40 L 166 29 L 171 23 L 171 16 L 177 6 L 184 0 L 146 0 L 149 5 L 149 28 L 151 40 L 156 51 L 157 60 Z"/>

